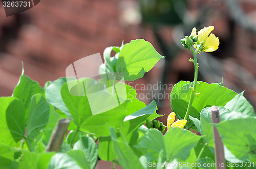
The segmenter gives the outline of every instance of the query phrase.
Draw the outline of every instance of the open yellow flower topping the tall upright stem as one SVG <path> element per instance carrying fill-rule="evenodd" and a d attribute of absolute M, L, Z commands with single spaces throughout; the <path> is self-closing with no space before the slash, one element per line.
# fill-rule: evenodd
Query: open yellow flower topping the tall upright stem
<path fill-rule="evenodd" d="M 194 28 L 193 28 L 194 30 Z M 195 34 L 195 32 L 192 33 Z M 200 51 L 204 52 L 214 52 L 218 49 L 220 40 L 214 34 L 210 34 L 210 32 L 214 30 L 213 26 L 204 27 L 198 32 L 198 41 L 194 47 L 198 48 Z M 191 34 L 192 34 L 191 33 Z M 210 35 L 209 35 L 210 34 Z"/>

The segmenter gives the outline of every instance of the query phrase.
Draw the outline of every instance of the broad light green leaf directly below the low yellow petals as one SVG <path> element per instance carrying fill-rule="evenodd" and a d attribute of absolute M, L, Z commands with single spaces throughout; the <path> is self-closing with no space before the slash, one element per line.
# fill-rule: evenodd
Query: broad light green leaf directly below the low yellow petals
<path fill-rule="evenodd" d="M 164 135 L 167 158 L 186 160 L 201 136 L 178 127 L 170 128 Z"/>

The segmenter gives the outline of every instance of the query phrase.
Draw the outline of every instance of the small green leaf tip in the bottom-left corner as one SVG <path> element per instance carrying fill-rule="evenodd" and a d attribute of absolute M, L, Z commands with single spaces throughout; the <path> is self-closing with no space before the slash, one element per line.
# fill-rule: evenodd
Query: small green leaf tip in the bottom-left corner
<path fill-rule="evenodd" d="M 6 144 L 0 143 L 0 167 L 8 167 L 14 160 L 14 154 L 17 152 Z"/>

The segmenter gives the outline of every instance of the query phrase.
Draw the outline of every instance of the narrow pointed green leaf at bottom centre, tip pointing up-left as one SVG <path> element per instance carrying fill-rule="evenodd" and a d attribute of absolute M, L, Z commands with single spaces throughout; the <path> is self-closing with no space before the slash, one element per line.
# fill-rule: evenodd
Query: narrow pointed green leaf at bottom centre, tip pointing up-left
<path fill-rule="evenodd" d="M 139 158 L 135 155 L 131 147 L 124 141 L 118 140 L 115 129 L 110 128 L 111 138 L 113 141 L 114 153 L 118 158 L 119 164 L 123 168 L 144 168 L 139 161 Z"/>

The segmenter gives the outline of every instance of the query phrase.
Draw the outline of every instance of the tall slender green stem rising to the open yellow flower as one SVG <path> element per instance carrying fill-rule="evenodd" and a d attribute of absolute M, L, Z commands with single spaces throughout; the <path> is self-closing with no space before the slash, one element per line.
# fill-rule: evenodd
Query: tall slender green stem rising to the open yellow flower
<path fill-rule="evenodd" d="M 198 50 L 195 50 L 195 51 L 191 50 L 191 51 L 193 52 L 193 57 L 194 57 L 193 62 L 194 62 L 194 66 L 195 66 L 195 77 L 194 77 L 193 89 L 192 89 L 192 92 L 191 92 L 191 95 L 190 95 L 190 98 L 189 98 L 187 111 L 186 111 L 184 119 L 187 119 L 187 117 L 190 113 L 190 109 L 192 107 L 192 103 L 193 103 L 193 100 L 194 100 L 194 97 L 195 97 L 195 92 L 196 92 L 196 87 L 197 87 L 197 76 L 198 76 L 197 52 L 198 52 Z"/>

